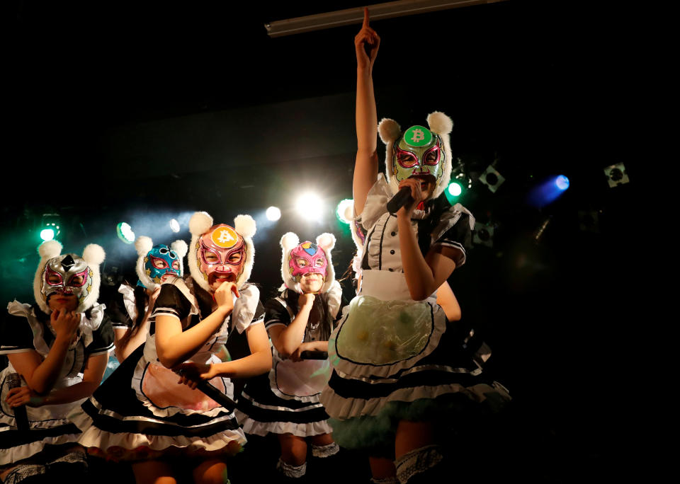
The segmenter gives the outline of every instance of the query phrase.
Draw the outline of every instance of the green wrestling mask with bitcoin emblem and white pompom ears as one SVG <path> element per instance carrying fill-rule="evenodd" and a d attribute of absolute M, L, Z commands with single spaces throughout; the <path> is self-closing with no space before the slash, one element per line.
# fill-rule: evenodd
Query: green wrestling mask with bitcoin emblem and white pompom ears
<path fill-rule="evenodd" d="M 436 198 L 448 187 L 451 176 L 451 147 L 449 133 L 453 121 L 444 113 L 428 115 L 427 124 L 412 126 L 405 132 L 395 120 L 380 121 L 378 132 L 385 143 L 385 168 L 387 181 L 393 193 L 399 191 L 399 182 L 413 175 L 431 175 L 435 188 L 431 198 Z"/>

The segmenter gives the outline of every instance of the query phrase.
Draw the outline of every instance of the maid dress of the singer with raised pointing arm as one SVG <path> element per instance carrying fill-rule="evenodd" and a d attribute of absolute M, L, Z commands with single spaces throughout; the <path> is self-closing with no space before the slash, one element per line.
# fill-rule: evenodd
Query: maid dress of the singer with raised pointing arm
<path fill-rule="evenodd" d="M 470 347 L 436 304 L 436 293 L 411 299 L 399 252 L 396 215 L 387 212 L 392 197 L 383 177 L 368 192 L 363 229 L 361 289 L 343 309 L 329 339 L 333 371 L 320 402 L 331 416 L 333 438 L 349 449 L 394 449 L 399 420 L 441 421 L 471 404 L 499 408 L 509 400 L 504 387 L 482 374 L 488 347 Z M 446 197 L 416 209 L 411 224 L 419 248 L 457 250 L 465 263 L 472 214 Z"/>

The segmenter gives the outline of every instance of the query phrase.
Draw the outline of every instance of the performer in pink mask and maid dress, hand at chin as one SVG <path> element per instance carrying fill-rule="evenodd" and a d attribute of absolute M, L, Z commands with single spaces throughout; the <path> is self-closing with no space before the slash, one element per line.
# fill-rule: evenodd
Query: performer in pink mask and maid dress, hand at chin
<path fill-rule="evenodd" d="M 305 353 L 326 354 L 341 304 L 342 289 L 331 261 L 334 246 L 333 234 L 321 234 L 316 243 L 299 243 L 292 232 L 281 238 L 284 285 L 265 304 L 272 369 L 268 376 L 251 379 L 239 398 L 237 416 L 246 434 L 277 434 L 281 456 L 276 468 L 288 478 L 305 475 L 307 443 L 315 457 L 339 450 L 319 403 L 329 376 L 328 360 L 307 359 Z"/>

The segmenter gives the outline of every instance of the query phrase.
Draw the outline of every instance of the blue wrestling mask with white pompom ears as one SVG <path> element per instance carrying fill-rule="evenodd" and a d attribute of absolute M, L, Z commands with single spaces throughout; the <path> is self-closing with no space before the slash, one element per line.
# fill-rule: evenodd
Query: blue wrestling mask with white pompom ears
<path fill-rule="evenodd" d="M 172 277 L 182 277 L 184 265 L 182 259 L 186 255 L 186 242 L 174 241 L 170 247 L 165 244 L 154 246 L 154 241 L 147 236 L 139 236 L 135 241 L 137 249 L 138 286 L 157 289 Z"/>

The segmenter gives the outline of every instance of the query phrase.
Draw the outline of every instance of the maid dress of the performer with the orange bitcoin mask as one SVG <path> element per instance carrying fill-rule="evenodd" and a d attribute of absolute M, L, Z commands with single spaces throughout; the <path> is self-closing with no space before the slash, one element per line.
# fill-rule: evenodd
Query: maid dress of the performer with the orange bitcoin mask
<path fill-rule="evenodd" d="M 234 301 L 234 310 L 221 327 L 188 362 L 220 362 L 216 353 L 227 341 L 229 328 L 244 333 L 251 324 L 262 323 L 259 289 L 246 284 Z M 144 345 L 120 364 L 81 408 L 69 415 L 83 431 L 80 444 L 91 454 L 115 461 L 142 461 L 182 456 L 233 455 L 246 443 L 232 409 L 198 389 L 178 384 L 179 376 L 157 357 L 155 319 L 188 318 L 184 330 L 212 313 L 212 296 L 194 284 L 176 278 L 162 285 L 154 305 L 149 335 Z M 232 382 L 217 376 L 210 380 L 229 398 Z"/>

